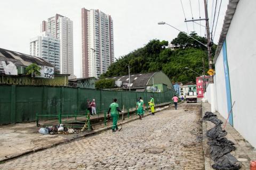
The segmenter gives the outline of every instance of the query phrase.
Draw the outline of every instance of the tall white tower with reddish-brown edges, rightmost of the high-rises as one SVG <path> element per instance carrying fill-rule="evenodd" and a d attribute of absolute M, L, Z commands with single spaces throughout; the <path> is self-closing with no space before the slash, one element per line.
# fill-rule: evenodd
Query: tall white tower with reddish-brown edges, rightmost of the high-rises
<path fill-rule="evenodd" d="M 100 10 L 82 8 L 83 77 L 99 78 L 114 62 L 113 20 Z"/>

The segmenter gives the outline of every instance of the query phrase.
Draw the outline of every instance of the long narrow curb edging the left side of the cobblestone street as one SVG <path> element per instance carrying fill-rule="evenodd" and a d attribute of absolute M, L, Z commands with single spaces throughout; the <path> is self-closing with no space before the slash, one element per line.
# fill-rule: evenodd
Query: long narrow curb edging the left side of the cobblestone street
<path fill-rule="evenodd" d="M 171 105 L 171 104 L 167 104 L 167 105 L 163 105 L 163 106 L 157 106 L 157 107 L 164 107 L 164 106 L 168 106 L 168 105 Z M 161 111 L 164 111 L 165 109 L 166 108 L 162 109 Z M 161 111 L 156 111 L 155 113 L 161 112 Z M 146 117 L 148 115 L 151 115 L 151 113 L 145 114 L 144 117 Z M 128 121 L 124 121 L 123 124 L 129 123 L 129 122 L 132 122 L 132 121 L 135 121 L 135 120 L 139 120 L 139 117 L 135 117 L 135 118 L 132 118 L 132 119 L 130 119 Z M 121 123 L 118 123 L 117 125 L 119 126 L 119 125 L 121 125 Z M 72 139 L 65 139 L 65 140 L 59 141 L 57 143 L 50 144 L 50 145 L 46 145 L 46 146 L 42 146 L 42 147 L 37 147 L 37 148 L 34 148 L 34 149 L 28 149 L 28 150 L 25 150 L 25 151 L 20 152 L 18 154 L 8 155 L 8 156 L 5 156 L 5 158 L 0 158 L 0 163 L 4 163 L 4 162 L 7 162 L 9 160 L 12 160 L 12 159 L 24 156 L 24 155 L 28 155 L 28 154 L 31 154 L 31 153 L 34 153 L 34 152 L 37 152 L 37 151 L 41 151 L 41 150 L 44 150 L 44 149 L 52 148 L 52 147 L 61 145 L 63 143 L 68 143 L 68 142 L 71 142 L 71 141 L 74 141 L 74 140 L 77 140 L 77 139 L 80 139 L 80 138 L 90 137 L 92 135 L 99 134 L 101 132 L 110 130 L 111 128 L 112 128 L 112 126 L 108 126 L 108 127 L 101 128 L 99 130 L 95 130 L 95 131 L 92 131 L 92 132 L 89 132 L 89 133 L 86 133 L 86 134 L 82 134 L 82 135 L 78 134 L 78 135 L 76 135 Z"/>

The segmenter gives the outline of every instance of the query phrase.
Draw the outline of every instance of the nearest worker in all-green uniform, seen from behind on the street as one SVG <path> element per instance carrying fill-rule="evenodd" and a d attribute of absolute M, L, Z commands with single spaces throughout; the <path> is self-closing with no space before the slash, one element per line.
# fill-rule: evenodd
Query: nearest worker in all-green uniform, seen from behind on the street
<path fill-rule="evenodd" d="M 118 127 L 117 127 L 118 112 L 123 112 L 123 111 L 119 109 L 119 106 L 116 103 L 117 99 L 114 99 L 113 101 L 114 102 L 110 104 L 108 109 L 108 117 L 109 117 L 109 112 L 111 111 L 111 117 L 113 119 L 112 132 L 115 132 L 116 130 L 118 130 Z"/>

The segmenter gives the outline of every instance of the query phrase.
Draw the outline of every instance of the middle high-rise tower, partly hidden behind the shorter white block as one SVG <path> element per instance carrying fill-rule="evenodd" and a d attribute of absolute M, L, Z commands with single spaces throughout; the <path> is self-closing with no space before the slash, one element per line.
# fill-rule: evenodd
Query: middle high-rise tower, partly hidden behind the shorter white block
<path fill-rule="evenodd" d="M 47 31 L 60 40 L 60 72 L 74 78 L 73 21 L 56 14 L 42 22 L 42 31 Z"/>

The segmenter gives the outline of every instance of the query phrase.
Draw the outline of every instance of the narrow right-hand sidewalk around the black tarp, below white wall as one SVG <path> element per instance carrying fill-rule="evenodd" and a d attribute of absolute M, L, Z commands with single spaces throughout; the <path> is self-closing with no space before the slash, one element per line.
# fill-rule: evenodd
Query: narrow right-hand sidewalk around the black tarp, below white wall
<path fill-rule="evenodd" d="M 202 117 L 205 112 L 211 111 L 211 105 L 209 103 L 202 103 Z M 214 114 L 222 121 L 225 122 L 225 118 L 223 118 L 220 113 L 215 112 Z M 207 130 L 213 128 L 214 124 L 209 121 L 203 121 L 203 149 L 205 156 L 205 169 L 213 169 L 211 165 L 214 162 L 210 159 L 210 150 L 207 145 L 207 137 L 205 135 Z M 247 142 L 241 134 L 239 134 L 230 124 L 227 123 L 225 130 L 228 132 L 226 138 L 235 143 L 236 150 L 231 151 L 230 154 L 235 156 L 238 161 L 241 163 L 241 169 L 250 169 L 250 161 L 256 160 L 256 149 L 251 146 L 249 142 Z"/>

